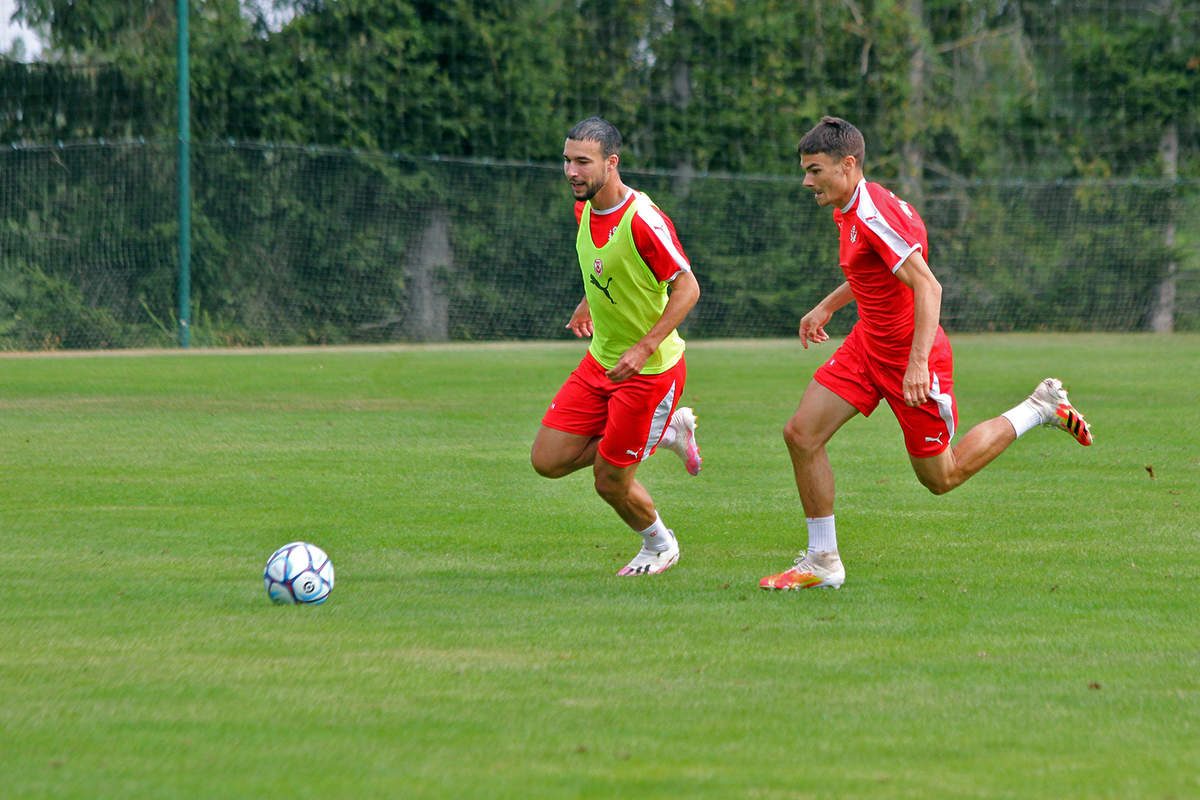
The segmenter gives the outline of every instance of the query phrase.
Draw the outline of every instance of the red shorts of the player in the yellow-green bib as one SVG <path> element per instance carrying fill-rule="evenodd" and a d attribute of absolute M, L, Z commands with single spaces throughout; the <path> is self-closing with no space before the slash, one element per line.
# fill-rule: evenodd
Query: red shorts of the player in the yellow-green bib
<path fill-rule="evenodd" d="M 614 467 L 630 467 L 649 458 L 659 446 L 686 378 L 688 367 L 679 359 L 666 372 L 614 384 L 586 353 L 554 395 L 541 423 L 565 433 L 604 437 L 600 457 Z"/>

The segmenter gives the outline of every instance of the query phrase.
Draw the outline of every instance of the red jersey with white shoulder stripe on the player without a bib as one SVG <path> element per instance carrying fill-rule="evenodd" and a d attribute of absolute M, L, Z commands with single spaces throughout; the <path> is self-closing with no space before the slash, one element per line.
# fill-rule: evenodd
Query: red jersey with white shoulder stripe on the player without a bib
<path fill-rule="evenodd" d="M 845 209 L 834 209 L 838 260 L 858 303 L 868 353 L 905 365 L 912 347 L 912 289 L 895 271 L 914 251 L 929 260 L 925 223 L 911 205 L 864 178 Z"/>

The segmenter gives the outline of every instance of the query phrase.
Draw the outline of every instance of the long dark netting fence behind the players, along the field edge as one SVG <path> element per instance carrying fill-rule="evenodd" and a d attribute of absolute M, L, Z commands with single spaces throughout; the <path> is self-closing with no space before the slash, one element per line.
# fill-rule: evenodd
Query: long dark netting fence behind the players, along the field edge
<path fill-rule="evenodd" d="M 176 343 L 169 142 L 0 155 L 0 348 Z M 625 172 L 703 288 L 691 337 L 791 336 L 835 287 L 799 175 Z M 558 166 L 193 148 L 193 345 L 556 338 L 582 294 Z M 928 184 L 952 331 L 1200 329 L 1200 182 Z M 833 332 L 852 314 L 835 318 Z"/>

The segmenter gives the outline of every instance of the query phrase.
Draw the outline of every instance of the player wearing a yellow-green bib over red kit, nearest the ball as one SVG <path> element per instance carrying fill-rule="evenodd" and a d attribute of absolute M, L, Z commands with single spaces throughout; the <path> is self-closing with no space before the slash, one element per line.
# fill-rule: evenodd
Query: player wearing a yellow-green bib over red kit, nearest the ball
<path fill-rule="evenodd" d="M 700 284 L 671 219 L 622 182 L 620 145 L 616 126 L 593 116 L 563 146 L 583 276 L 583 300 L 566 327 L 592 343 L 542 417 L 530 461 L 546 477 L 592 468 L 596 493 L 642 537 L 617 575 L 644 576 L 671 569 L 679 542 L 636 480 L 637 465 L 660 445 L 690 475 L 702 463 L 696 415 L 678 405 L 688 369 L 676 331 Z"/>

